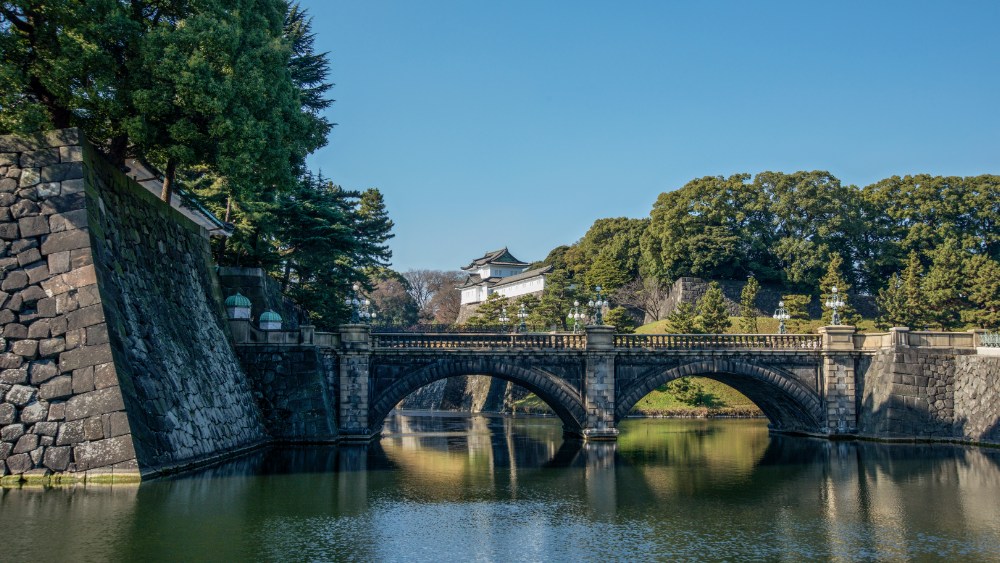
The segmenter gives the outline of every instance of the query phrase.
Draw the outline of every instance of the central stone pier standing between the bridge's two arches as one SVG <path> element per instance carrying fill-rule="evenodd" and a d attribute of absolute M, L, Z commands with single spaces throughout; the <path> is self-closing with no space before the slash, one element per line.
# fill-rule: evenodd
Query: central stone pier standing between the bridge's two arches
<path fill-rule="evenodd" d="M 616 440 L 614 327 L 588 326 L 587 366 L 584 375 L 583 421 L 586 440 Z"/>

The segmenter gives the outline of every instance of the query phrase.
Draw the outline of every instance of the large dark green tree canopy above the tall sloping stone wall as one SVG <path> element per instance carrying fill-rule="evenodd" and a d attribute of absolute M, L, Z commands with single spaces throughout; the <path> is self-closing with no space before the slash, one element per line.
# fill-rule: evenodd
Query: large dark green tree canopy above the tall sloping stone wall
<path fill-rule="evenodd" d="M 371 290 L 392 236 L 382 194 L 305 168 L 326 143 L 326 53 L 286 0 L 0 2 L 0 133 L 80 127 L 233 225 L 221 264 L 263 267 L 329 326 Z"/>

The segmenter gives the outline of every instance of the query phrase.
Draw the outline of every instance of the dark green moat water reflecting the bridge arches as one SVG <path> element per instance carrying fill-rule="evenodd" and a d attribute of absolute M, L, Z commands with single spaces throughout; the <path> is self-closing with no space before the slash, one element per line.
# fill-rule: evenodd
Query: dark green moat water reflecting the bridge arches
<path fill-rule="evenodd" d="M 1000 450 L 759 421 L 400 416 L 140 487 L 0 492 L 4 561 L 1000 560 Z"/>

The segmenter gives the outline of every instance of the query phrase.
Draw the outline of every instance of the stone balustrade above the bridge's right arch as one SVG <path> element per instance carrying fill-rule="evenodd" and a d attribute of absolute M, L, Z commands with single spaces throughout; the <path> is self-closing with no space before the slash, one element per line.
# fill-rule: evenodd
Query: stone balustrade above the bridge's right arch
<path fill-rule="evenodd" d="M 817 334 L 616 334 L 615 348 L 625 349 L 769 349 L 818 350 Z"/>

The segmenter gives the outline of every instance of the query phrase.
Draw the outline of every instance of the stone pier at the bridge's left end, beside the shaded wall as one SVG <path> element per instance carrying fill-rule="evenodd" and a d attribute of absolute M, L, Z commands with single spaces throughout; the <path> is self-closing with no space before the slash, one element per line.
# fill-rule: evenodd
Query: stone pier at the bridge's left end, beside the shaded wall
<path fill-rule="evenodd" d="M 368 362 L 371 331 L 368 325 L 340 326 L 340 384 L 337 389 L 337 424 L 340 437 L 348 442 L 367 442 L 381 429 L 369 427 L 371 396 Z"/>

